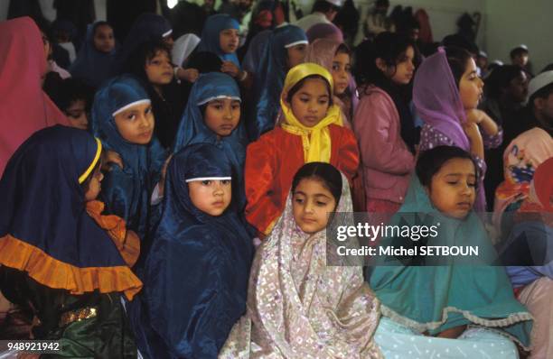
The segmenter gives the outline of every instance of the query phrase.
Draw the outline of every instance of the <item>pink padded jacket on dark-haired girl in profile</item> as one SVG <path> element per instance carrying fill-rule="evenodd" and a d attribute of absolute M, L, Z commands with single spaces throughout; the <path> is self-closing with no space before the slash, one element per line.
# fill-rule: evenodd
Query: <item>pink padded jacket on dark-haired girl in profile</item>
<path fill-rule="evenodd" d="M 403 203 L 415 157 L 400 135 L 398 109 L 380 87 L 360 91 L 353 132 L 361 153 L 367 201 L 386 199 Z"/>

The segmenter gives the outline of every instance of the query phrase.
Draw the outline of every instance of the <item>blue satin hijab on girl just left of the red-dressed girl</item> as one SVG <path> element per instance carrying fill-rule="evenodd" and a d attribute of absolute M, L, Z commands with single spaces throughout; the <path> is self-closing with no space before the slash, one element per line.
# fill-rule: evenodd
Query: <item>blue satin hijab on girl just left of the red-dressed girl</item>
<path fill-rule="evenodd" d="M 229 75 L 220 72 L 202 74 L 196 80 L 188 103 L 184 109 L 183 118 L 179 124 L 179 130 L 174 142 L 174 151 L 179 152 L 183 147 L 192 143 L 211 143 L 223 150 L 230 159 L 233 169 L 235 189 L 235 203 L 239 208 L 246 206 L 244 192 L 244 162 L 246 161 L 247 139 L 244 134 L 243 124 L 239 123 L 230 136 L 222 137 L 211 131 L 203 121 L 201 106 L 207 105 L 212 99 L 231 97 L 240 100 L 240 90 L 236 81 Z"/>

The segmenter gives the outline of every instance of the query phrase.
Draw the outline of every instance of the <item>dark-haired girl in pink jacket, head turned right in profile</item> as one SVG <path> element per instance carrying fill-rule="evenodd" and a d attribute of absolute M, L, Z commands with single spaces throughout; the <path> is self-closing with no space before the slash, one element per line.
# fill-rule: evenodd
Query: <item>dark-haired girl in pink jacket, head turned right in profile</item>
<path fill-rule="evenodd" d="M 417 131 L 406 96 L 416 50 L 407 37 L 382 32 L 356 53 L 360 102 L 353 117 L 359 141 L 366 210 L 389 218 L 401 206 L 415 165 Z"/>

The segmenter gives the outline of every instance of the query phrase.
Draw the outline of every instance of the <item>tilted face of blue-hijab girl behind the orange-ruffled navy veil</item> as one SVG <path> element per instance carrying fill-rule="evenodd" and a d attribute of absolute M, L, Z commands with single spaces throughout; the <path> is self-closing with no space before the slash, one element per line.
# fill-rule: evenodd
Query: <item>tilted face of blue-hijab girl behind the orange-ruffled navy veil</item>
<path fill-rule="evenodd" d="M 127 142 L 148 144 L 154 135 L 154 114 L 150 104 L 132 106 L 115 115 L 117 131 Z"/>

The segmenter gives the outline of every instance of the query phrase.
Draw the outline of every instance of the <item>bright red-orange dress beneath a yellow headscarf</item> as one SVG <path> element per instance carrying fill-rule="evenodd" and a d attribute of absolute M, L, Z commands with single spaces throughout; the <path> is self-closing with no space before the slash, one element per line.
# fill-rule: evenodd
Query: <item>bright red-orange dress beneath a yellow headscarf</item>
<path fill-rule="evenodd" d="M 329 125 L 330 163 L 351 179 L 359 167 L 355 135 L 342 126 Z M 281 127 L 263 134 L 248 145 L 246 153 L 246 219 L 267 235 L 285 208 L 295 172 L 305 164 L 302 137 Z"/>

